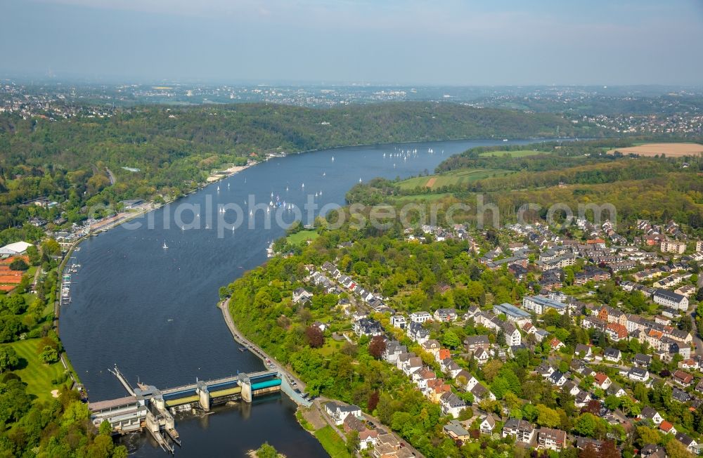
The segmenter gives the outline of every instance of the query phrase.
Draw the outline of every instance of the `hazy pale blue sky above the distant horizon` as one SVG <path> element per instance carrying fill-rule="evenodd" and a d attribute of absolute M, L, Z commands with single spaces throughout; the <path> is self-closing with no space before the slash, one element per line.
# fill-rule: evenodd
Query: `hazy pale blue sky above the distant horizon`
<path fill-rule="evenodd" d="M 703 0 L 0 0 L 0 76 L 703 85 Z"/>

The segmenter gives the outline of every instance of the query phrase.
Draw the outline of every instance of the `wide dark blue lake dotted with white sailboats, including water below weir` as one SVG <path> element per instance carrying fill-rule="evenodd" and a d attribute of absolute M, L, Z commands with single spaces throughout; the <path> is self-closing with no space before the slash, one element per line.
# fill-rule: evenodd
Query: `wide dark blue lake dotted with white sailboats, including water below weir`
<path fill-rule="evenodd" d="M 314 201 L 321 206 L 344 204 L 345 192 L 360 178 L 431 172 L 443 159 L 467 148 L 513 143 L 526 141 L 374 145 L 271 159 L 86 240 L 75 254 L 82 268 L 73 277 L 72 303 L 61 310 L 60 330 L 90 400 L 126 394 L 107 370 L 115 364 L 133 384 L 139 380 L 159 388 L 264 369 L 251 353 L 238 351 L 217 308 L 218 289 L 264 263 L 267 245 L 285 228 L 275 223 L 263 228 L 266 210 L 261 210 L 254 214 L 254 229 L 245 224 L 219 231 L 217 218 L 222 214 L 217 205 L 238 204 L 248 222 L 251 202 L 245 205 L 245 200 L 250 195 L 257 203 L 269 204 L 278 196 L 302 207 L 308 195 L 318 193 Z M 434 153 L 428 152 L 430 148 Z M 418 154 L 407 159 L 396 156 L 408 149 L 417 149 Z M 174 223 L 184 205 L 195 210 L 183 211 L 183 221 L 200 213 L 200 229 L 182 230 Z M 207 207 L 214 209 L 212 221 L 207 220 Z M 292 213 L 286 211 L 284 216 L 290 218 Z M 233 211 L 224 216 L 235 219 Z M 134 225 L 141 227 L 128 227 Z M 294 414 L 295 404 L 277 395 L 252 405 L 220 407 L 205 417 L 181 418 L 177 428 L 183 447 L 176 454 L 236 457 L 268 441 L 288 457 L 327 456 Z M 130 441 L 138 457 L 164 456 L 146 435 Z"/>

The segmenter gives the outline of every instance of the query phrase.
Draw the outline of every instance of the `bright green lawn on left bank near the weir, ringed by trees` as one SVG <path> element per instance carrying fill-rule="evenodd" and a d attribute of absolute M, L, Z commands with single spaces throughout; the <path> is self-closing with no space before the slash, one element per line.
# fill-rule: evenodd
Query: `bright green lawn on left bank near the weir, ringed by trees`
<path fill-rule="evenodd" d="M 51 384 L 51 380 L 58 379 L 63 374 L 63 366 L 60 362 L 52 365 L 41 362 L 37 354 L 38 343 L 39 339 L 27 339 L 8 343 L 8 345 L 15 348 L 20 358 L 22 369 L 16 369 L 13 372 L 27 384 L 27 393 L 37 396 L 39 400 L 47 400 L 51 398 L 51 390 L 58 388 Z"/>

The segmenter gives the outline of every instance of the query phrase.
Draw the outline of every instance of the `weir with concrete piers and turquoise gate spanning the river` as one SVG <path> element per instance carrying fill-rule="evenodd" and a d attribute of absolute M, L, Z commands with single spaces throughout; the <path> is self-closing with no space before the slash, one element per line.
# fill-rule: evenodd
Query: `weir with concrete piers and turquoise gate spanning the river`
<path fill-rule="evenodd" d="M 181 445 L 173 416 L 177 411 L 195 408 L 208 412 L 213 405 L 232 400 L 251 403 L 255 397 L 276 393 L 281 388 L 281 376 L 277 370 L 240 373 L 162 390 L 145 384 L 133 388 L 117 366 L 110 372 L 115 374 L 129 395 L 89 403 L 93 424 L 99 427 L 103 421 L 108 421 L 115 434 L 146 429 L 160 447 L 171 454 L 174 454 L 176 445 Z"/>

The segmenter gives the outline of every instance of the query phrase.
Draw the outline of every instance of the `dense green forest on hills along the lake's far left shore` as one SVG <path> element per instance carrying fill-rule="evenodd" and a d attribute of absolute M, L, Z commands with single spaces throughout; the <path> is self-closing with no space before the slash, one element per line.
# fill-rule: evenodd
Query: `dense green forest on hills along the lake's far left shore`
<path fill-rule="evenodd" d="M 23 202 L 49 197 L 69 223 L 82 207 L 121 199 L 179 197 L 209 172 L 269 152 L 361 143 L 456 138 L 600 136 L 555 114 L 451 103 L 387 103 L 311 109 L 238 104 L 134 107 L 112 117 L 53 121 L 0 114 L 0 229 L 32 216 Z M 127 167 L 131 170 L 123 169 Z M 110 182 L 108 169 L 115 176 Z"/>

